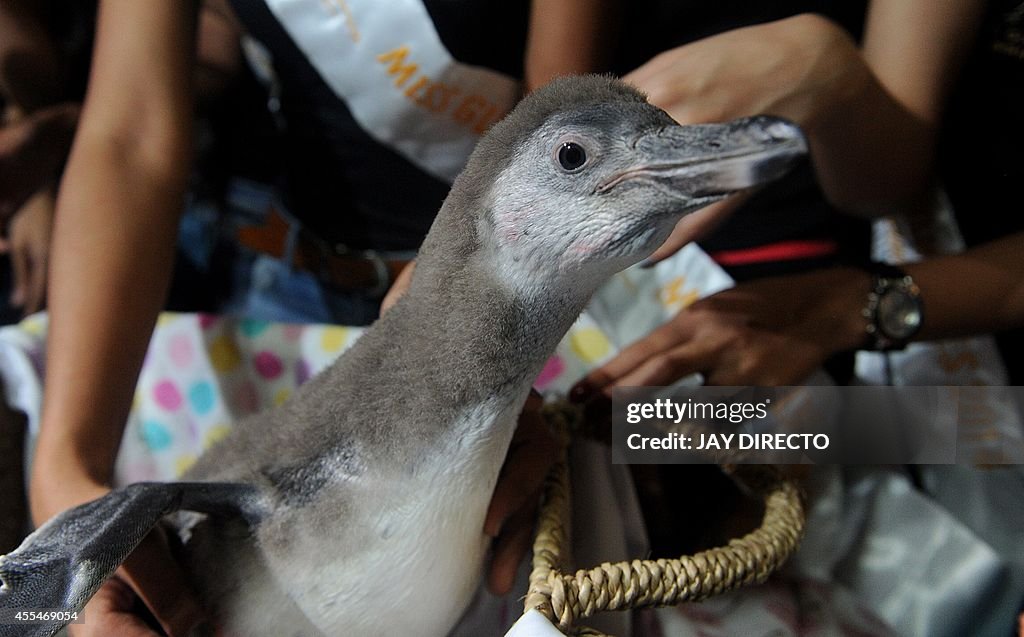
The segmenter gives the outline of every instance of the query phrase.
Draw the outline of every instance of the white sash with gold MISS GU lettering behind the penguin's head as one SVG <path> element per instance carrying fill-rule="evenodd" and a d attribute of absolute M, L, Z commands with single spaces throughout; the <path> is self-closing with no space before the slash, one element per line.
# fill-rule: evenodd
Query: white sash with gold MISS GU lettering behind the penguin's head
<path fill-rule="evenodd" d="M 265 0 L 371 136 L 451 182 L 480 134 L 520 94 L 455 60 L 420 0 Z"/>

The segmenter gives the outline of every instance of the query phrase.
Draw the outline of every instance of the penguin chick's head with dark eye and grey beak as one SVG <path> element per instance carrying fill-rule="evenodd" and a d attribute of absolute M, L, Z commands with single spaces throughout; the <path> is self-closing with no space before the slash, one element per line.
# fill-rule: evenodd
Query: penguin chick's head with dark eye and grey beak
<path fill-rule="evenodd" d="M 479 255 L 514 287 L 593 291 L 683 215 L 780 177 L 806 153 L 778 118 L 680 126 L 622 82 L 564 78 L 490 129 L 449 199 L 473 211 L 464 222 Z"/>

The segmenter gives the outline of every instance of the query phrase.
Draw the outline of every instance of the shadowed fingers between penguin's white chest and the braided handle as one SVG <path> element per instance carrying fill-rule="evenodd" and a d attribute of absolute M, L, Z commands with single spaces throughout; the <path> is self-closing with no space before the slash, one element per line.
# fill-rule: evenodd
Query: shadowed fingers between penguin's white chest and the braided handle
<path fill-rule="evenodd" d="M 483 522 L 483 533 L 495 539 L 487 588 L 496 595 L 512 590 L 529 548 L 545 479 L 558 459 L 559 443 L 541 414 L 543 404 L 537 392 L 526 399 Z"/>

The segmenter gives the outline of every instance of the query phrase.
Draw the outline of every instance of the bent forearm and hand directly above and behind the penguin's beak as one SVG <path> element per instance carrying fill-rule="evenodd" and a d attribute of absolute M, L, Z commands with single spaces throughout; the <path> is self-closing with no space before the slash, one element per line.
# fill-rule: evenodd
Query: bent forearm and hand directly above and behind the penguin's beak
<path fill-rule="evenodd" d="M 758 114 L 799 125 L 825 197 L 848 212 L 915 211 L 934 125 L 893 96 L 850 36 L 802 14 L 670 49 L 624 78 L 681 124 Z"/>

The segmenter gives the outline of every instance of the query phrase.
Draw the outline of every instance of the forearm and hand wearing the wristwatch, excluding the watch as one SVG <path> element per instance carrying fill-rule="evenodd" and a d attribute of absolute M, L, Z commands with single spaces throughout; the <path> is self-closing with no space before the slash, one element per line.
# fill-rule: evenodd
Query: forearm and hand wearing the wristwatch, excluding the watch
<path fill-rule="evenodd" d="M 903 266 L 921 289 L 915 340 L 1024 326 L 1024 232 Z M 575 397 L 614 385 L 668 385 L 705 373 L 718 385 L 792 385 L 865 343 L 870 275 L 842 267 L 744 283 L 693 303 L 587 378 Z M 979 308 L 984 308 L 979 311 Z"/>

